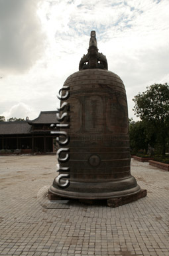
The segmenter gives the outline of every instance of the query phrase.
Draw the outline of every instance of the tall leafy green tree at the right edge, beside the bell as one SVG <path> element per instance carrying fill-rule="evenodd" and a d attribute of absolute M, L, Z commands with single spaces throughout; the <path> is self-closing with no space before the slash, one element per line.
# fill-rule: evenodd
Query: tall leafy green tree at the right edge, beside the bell
<path fill-rule="evenodd" d="M 156 134 L 156 144 L 162 155 L 166 152 L 169 126 L 169 86 L 168 84 L 152 84 L 145 92 L 133 98 L 134 111 L 146 125 L 150 134 Z"/>

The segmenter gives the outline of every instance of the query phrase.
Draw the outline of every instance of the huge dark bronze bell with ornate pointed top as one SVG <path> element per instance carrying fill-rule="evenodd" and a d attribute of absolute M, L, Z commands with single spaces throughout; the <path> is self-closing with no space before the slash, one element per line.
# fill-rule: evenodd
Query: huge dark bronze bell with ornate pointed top
<path fill-rule="evenodd" d="M 62 160 L 68 161 L 59 161 L 62 180 L 54 179 L 49 194 L 107 199 L 109 206 L 116 207 L 144 197 L 146 190 L 141 190 L 131 176 L 125 86 L 107 68 L 106 57 L 97 49 L 95 31 L 91 31 L 89 49 L 80 61 L 79 71 L 64 82 L 64 88 L 70 91 L 66 100 L 61 100 L 60 115 L 66 109 L 63 103 L 70 106 L 70 125 L 61 130 L 67 132 L 70 141 L 60 146 L 65 151 L 59 153 Z M 66 124 L 66 118 L 62 123 Z"/>

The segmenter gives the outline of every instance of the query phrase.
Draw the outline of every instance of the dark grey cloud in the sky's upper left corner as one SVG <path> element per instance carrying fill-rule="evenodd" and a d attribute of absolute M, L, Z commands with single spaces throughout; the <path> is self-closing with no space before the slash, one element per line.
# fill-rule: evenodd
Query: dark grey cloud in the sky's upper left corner
<path fill-rule="evenodd" d="M 40 0 L 0 1 L 0 70 L 28 70 L 42 56 L 44 35 L 36 9 Z"/>

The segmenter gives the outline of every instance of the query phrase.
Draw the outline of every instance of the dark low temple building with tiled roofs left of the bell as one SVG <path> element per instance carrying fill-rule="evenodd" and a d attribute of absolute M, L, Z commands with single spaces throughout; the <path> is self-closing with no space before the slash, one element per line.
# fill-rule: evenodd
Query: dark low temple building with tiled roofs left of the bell
<path fill-rule="evenodd" d="M 0 122 L 0 150 L 23 154 L 56 152 L 56 135 L 50 133 L 50 125 L 58 122 L 56 113 L 42 111 L 34 120 Z"/>

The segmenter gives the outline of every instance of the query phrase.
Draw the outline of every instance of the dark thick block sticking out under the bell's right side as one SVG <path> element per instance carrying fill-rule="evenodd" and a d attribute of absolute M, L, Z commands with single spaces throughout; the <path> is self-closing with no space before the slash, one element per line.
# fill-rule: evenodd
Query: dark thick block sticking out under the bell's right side
<path fill-rule="evenodd" d="M 126 204 L 126 203 L 131 203 L 132 201 L 136 201 L 145 196 L 146 196 L 146 190 L 141 190 L 139 193 L 136 193 L 135 195 L 127 195 L 127 196 L 123 196 L 123 197 L 109 198 L 109 199 L 107 199 L 107 206 L 115 208 L 115 207 L 118 207 L 118 206 Z"/>

